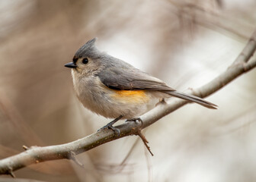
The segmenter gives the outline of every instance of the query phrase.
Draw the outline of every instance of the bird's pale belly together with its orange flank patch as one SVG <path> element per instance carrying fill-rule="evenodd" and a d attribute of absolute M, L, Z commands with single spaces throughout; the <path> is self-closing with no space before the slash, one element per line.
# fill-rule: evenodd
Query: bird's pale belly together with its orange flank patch
<path fill-rule="evenodd" d="M 75 84 L 75 93 L 85 108 L 105 118 L 117 118 L 123 115 L 124 119 L 138 118 L 149 111 L 152 98 L 145 90 L 115 90 L 110 89 L 98 80 L 84 79 L 86 84 Z M 87 88 L 80 88 L 87 85 Z"/>

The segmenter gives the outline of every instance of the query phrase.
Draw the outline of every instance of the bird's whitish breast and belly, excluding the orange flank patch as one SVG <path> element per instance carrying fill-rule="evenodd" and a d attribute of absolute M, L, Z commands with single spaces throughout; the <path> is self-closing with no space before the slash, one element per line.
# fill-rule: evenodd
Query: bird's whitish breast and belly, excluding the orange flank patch
<path fill-rule="evenodd" d="M 79 101 L 85 108 L 105 118 L 118 118 L 120 115 L 126 119 L 138 118 L 156 103 L 152 92 L 146 92 L 148 99 L 145 102 L 125 102 L 128 98 L 122 100 L 114 97 L 115 91 L 101 83 L 98 77 L 75 77 L 73 74 L 72 76 Z"/>

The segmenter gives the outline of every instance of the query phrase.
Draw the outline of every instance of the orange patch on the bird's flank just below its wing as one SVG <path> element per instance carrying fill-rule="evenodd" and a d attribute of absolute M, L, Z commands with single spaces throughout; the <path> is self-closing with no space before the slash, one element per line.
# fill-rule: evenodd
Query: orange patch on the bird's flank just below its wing
<path fill-rule="evenodd" d="M 149 97 L 144 90 L 114 90 L 114 98 L 123 103 L 144 104 L 149 102 Z"/>

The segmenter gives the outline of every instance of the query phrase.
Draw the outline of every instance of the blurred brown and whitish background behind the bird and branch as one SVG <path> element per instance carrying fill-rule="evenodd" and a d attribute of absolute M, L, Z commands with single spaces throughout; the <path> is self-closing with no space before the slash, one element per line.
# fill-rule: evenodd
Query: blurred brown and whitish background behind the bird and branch
<path fill-rule="evenodd" d="M 1 0 L 0 158 L 22 146 L 68 143 L 110 120 L 75 98 L 76 50 L 98 37 L 102 51 L 180 91 L 217 77 L 256 23 L 254 0 Z M 216 111 L 185 105 L 138 137 L 15 171 L 45 181 L 255 181 L 256 71 L 207 98 Z M 123 121 L 120 121 L 122 123 Z M 2 176 L 9 177 L 9 176 Z M 3 179 L 2 179 L 3 180 Z"/>

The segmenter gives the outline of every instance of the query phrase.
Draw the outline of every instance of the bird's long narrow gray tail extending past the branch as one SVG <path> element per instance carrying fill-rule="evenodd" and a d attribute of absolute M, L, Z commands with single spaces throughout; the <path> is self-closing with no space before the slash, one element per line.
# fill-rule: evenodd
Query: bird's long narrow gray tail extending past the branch
<path fill-rule="evenodd" d="M 216 109 L 218 107 L 217 105 L 215 105 L 211 102 L 208 102 L 208 101 L 206 101 L 206 100 L 204 100 L 200 97 L 192 96 L 192 95 L 189 95 L 189 94 L 186 94 L 186 93 L 179 93 L 178 91 L 167 91 L 165 93 L 168 93 L 171 96 L 175 96 L 175 97 L 185 99 L 185 100 L 188 100 L 188 101 L 191 101 L 191 102 L 196 102 L 197 104 L 203 105 L 206 108 Z"/>

